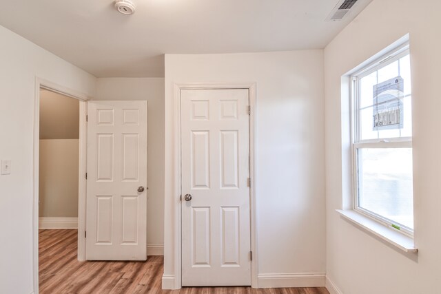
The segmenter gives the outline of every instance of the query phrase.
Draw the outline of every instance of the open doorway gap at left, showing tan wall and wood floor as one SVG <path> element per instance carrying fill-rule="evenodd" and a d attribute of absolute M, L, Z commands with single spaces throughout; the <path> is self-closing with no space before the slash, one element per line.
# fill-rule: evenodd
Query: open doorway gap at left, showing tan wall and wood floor
<path fill-rule="evenodd" d="M 80 101 L 39 89 L 39 281 L 57 270 L 60 255 L 78 259 Z"/>

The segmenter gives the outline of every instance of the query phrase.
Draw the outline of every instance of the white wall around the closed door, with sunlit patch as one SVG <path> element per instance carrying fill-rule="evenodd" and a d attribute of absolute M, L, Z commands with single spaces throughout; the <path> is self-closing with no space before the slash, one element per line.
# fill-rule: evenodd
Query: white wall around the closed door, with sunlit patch
<path fill-rule="evenodd" d="M 305 50 L 165 56 L 165 276 L 179 229 L 173 84 L 206 82 L 256 83 L 258 273 L 325 273 L 323 54 Z"/>

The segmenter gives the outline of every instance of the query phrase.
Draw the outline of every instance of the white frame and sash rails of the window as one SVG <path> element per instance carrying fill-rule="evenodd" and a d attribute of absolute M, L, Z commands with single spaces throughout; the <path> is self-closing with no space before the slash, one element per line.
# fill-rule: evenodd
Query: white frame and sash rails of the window
<path fill-rule="evenodd" d="M 354 72 L 350 76 L 351 81 L 351 151 L 352 151 L 352 181 L 353 181 L 353 210 L 367 216 L 377 222 L 380 222 L 387 227 L 391 227 L 396 231 L 404 233 L 413 238 L 413 229 L 399 224 L 398 222 L 393 222 L 377 213 L 373 213 L 367 209 L 363 209 L 359 205 L 358 196 L 358 149 L 365 148 L 412 148 L 412 137 L 395 137 L 395 138 L 381 138 L 381 139 L 369 139 L 361 140 L 360 138 L 360 89 L 359 81 L 361 78 L 368 76 L 372 72 L 385 67 L 398 59 L 409 54 L 409 42 L 400 45 L 399 47 L 391 50 L 387 54 L 384 54 L 376 61 L 369 63 L 361 70 Z M 411 96 L 411 94 L 410 94 Z"/>

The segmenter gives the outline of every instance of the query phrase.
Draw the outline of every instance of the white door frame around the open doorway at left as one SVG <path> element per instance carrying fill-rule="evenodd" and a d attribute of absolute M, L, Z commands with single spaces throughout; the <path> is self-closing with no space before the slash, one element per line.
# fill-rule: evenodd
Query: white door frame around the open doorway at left
<path fill-rule="evenodd" d="M 34 98 L 34 155 L 32 170 L 32 269 L 34 276 L 34 293 L 39 293 L 39 140 L 40 140 L 40 90 L 50 90 L 79 100 L 79 205 L 78 205 L 78 260 L 85 260 L 85 196 L 86 196 L 86 155 L 87 155 L 87 101 L 90 96 L 57 83 L 52 83 L 38 76 L 35 78 Z"/>

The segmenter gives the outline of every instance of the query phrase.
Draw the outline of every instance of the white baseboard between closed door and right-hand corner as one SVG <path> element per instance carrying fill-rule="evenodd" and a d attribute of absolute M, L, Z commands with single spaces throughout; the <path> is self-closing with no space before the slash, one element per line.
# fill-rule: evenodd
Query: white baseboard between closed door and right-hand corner
<path fill-rule="evenodd" d="M 325 273 L 265 273 L 258 275 L 258 287 L 323 287 L 325 277 Z"/>

